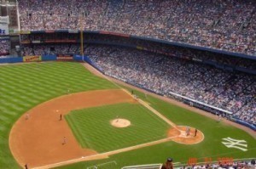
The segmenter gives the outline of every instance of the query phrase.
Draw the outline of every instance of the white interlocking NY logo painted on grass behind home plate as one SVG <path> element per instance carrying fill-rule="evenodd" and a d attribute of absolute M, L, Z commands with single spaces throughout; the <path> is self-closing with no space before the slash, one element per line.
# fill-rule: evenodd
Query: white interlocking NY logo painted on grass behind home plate
<path fill-rule="evenodd" d="M 241 149 L 242 151 L 247 151 L 247 141 L 245 140 L 238 140 L 234 138 L 222 138 L 226 142 L 221 142 L 224 144 L 227 148 L 235 148 L 235 149 Z"/>

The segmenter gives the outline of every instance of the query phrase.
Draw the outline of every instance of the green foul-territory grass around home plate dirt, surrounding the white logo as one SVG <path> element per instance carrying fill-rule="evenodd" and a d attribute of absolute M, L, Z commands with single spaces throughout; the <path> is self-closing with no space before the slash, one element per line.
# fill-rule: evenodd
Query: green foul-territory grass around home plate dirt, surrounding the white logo
<path fill-rule="evenodd" d="M 125 87 L 129 91 L 131 88 Z M 102 165 L 99 169 L 108 168 L 108 162 L 115 161 L 116 165 L 111 169 L 119 169 L 122 166 L 133 166 L 143 164 L 154 164 L 166 161 L 166 157 L 171 156 L 174 162 L 186 163 L 189 158 L 195 157 L 198 162 L 203 162 L 206 157 L 211 157 L 212 161 L 218 161 L 221 157 L 232 157 L 234 159 L 256 158 L 256 140 L 236 127 L 231 127 L 223 122 L 212 120 L 204 115 L 185 110 L 176 105 L 166 103 L 150 95 L 145 98 L 144 93 L 133 90 L 140 99 L 148 102 L 155 110 L 175 122 L 177 125 L 184 125 L 199 128 L 204 132 L 205 139 L 201 144 L 183 145 L 174 142 L 157 144 L 150 147 L 131 150 L 111 155 L 110 158 L 100 161 L 79 162 L 69 166 L 61 166 L 61 169 L 86 168 L 93 165 Z M 222 138 L 236 138 L 247 141 L 247 151 L 239 149 L 228 149 L 221 144 Z M 106 165 L 104 165 L 107 163 Z M 113 163 L 112 163 L 113 165 Z"/>

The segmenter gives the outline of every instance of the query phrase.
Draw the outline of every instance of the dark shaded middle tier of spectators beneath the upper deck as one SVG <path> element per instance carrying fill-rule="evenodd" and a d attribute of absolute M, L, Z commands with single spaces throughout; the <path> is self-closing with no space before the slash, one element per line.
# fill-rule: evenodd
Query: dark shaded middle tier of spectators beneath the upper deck
<path fill-rule="evenodd" d="M 33 42 L 36 42 L 36 44 L 40 42 L 41 44 L 44 44 L 45 47 L 50 46 L 49 43 L 72 43 L 73 45 L 79 46 L 78 43 L 80 42 L 80 39 L 79 34 L 70 33 L 30 34 L 21 36 L 21 44 L 24 46 L 31 46 L 31 44 L 35 44 Z M 241 59 L 227 54 L 216 54 L 192 48 L 181 48 L 162 42 L 150 42 L 144 39 L 132 37 L 127 38 L 116 37 L 113 35 L 84 33 L 84 42 L 143 48 L 144 50 L 148 50 L 153 53 L 166 54 L 184 59 L 194 59 L 201 62 L 211 61 L 212 63 L 218 63 L 218 65 L 229 65 L 231 68 L 241 67 L 248 70 L 256 70 L 256 62 L 252 62 L 251 59 Z M 65 46 L 68 48 L 69 45 Z M 73 48 L 76 47 L 73 46 Z M 64 51 L 68 51 L 68 49 L 64 49 Z M 71 50 L 68 51 L 68 53 L 70 54 L 71 52 L 74 52 L 73 54 L 79 54 L 79 51 L 80 50 Z"/>

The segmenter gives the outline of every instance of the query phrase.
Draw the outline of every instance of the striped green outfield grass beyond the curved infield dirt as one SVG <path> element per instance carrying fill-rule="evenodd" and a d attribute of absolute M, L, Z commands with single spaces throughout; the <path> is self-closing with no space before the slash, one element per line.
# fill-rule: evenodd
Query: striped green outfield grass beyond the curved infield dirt
<path fill-rule="evenodd" d="M 67 93 L 114 88 L 79 63 L 49 62 L 0 66 L 0 168 L 19 168 L 9 150 L 15 121 L 37 104 Z"/>

